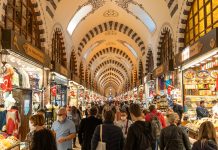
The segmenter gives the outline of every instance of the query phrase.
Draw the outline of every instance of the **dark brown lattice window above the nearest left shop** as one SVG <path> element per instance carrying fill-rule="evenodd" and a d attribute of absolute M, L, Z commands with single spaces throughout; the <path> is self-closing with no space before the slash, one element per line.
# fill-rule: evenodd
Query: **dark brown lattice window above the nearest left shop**
<path fill-rule="evenodd" d="M 41 49 L 40 31 L 31 0 L 8 0 L 5 8 L 5 28 L 23 35 L 28 42 Z"/>

